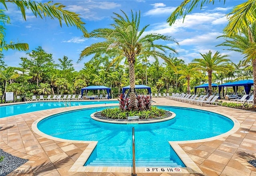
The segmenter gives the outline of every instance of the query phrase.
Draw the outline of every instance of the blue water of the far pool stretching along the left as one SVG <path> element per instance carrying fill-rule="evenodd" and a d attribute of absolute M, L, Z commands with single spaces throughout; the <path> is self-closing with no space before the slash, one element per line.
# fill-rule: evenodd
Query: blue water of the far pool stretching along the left
<path fill-rule="evenodd" d="M 14 104 L 0 106 L 0 118 L 18 115 L 22 113 L 48 110 L 52 108 L 61 108 L 65 106 L 81 106 L 89 104 L 110 104 L 118 103 L 118 101 L 78 101 L 78 102 L 33 102 L 24 104 Z"/>

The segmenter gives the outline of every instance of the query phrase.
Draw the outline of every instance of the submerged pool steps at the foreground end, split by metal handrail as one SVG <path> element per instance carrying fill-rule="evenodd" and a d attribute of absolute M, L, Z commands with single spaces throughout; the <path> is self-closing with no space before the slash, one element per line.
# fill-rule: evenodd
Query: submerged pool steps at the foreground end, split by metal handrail
<path fill-rule="evenodd" d="M 132 166 L 132 158 L 131 159 L 113 159 L 113 158 L 96 158 L 90 164 L 86 166 Z M 136 167 L 182 167 L 178 165 L 176 162 L 173 162 L 169 158 L 155 158 L 155 159 L 144 159 L 139 158 L 136 159 Z"/>

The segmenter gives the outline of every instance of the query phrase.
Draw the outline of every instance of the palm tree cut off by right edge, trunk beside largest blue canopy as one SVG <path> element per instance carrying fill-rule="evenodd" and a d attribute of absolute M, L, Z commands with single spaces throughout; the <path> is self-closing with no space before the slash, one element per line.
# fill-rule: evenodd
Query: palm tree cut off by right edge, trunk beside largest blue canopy
<path fill-rule="evenodd" d="M 222 35 L 225 42 L 221 43 L 221 46 L 229 47 L 228 50 L 238 51 L 245 55 L 243 66 L 252 66 L 252 75 L 254 79 L 253 93 L 256 95 L 256 22 L 251 23 L 249 28 L 240 29 L 240 33 L 234 35 Z M 219 46 L 219 45 L 218 45 Z M 256 106 L 256 98 L 254 98 L 254 106 Z"/>

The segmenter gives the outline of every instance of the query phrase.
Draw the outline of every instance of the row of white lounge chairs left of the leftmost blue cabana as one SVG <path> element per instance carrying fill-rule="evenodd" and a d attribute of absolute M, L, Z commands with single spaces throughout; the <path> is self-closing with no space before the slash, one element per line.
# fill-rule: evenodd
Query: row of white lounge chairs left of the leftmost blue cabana
<path fill-rule="evenodd" d="M 39 98 L 36 98 L 36 96 L 32 96 L 32 101 L 41 100 L 82 100 L 82 95 L 48 95 L 47 98 L 44 98 L 43 95 L 40 95 Z"/>

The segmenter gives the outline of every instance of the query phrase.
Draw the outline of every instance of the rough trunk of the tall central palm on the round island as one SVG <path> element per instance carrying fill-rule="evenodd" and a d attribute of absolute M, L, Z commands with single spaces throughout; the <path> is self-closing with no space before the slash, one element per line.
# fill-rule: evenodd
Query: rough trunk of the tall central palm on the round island
<path fill-rule="evenodd" d="M 130 109 L 134 110 L 137 108 L 136 95 L 135 95 L 135 69 L 134 62 L 129 62 L 129 79 L 130 79 Z"/>

